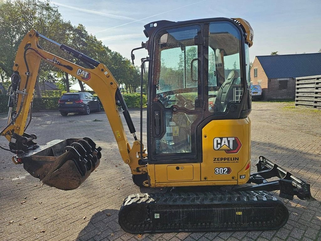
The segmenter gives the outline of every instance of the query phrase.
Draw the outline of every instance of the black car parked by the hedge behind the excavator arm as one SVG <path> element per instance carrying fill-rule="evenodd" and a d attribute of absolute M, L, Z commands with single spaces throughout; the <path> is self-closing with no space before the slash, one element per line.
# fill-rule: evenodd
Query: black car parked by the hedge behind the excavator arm
<path fill-rule="evenodd" d="M 58 109 L 62 116 L 70 112 L 89 115 L 91 111 L 101 111 L 101 103 L 88 92 L 66 93 L 61 96 Z"/>

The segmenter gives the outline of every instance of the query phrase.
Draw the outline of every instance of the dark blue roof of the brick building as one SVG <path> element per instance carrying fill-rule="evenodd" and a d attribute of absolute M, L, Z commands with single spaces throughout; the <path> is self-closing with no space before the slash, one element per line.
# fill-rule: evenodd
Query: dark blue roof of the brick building
<path fill-rule="evenodd" d="M 321 53 L 256 57 L 268 79 L 321 75 Z"/>

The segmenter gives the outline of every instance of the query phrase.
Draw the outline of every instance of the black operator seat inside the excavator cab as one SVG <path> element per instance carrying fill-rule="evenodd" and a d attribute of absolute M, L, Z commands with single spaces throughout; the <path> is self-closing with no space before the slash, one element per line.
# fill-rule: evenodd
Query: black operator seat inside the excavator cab
<path fill-rule="evenodd" d="M 237 84 L 240 75 L 236 70 L 232 70 L 227 76 L 227 79 L 221 85 L 219 91 L 217 92 L 214 112 L 224 112 L 226 102 L 234 100 L 234 91 L 233 87 Z"/>

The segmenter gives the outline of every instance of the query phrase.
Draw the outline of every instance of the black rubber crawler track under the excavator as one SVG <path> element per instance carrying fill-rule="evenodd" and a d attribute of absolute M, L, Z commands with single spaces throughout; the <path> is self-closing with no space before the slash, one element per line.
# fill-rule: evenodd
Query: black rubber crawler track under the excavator
<path fill-rule="evenodd" d="M 239 210 L 243 217 L 235 215 Z M 155 213 L 163 219 L 154 218 Z M 220 223 L 216 218 L 230 220 Z M 138 193 L 124 200 L 118 214 L 120 226 L 133 234 L 273 230 L 288 218 L 283 202 L 266 191 Z"/>

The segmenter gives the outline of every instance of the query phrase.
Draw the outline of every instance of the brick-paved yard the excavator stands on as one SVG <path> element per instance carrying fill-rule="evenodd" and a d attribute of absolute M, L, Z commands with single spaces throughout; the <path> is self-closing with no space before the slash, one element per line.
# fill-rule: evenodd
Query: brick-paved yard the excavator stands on
<path fill-rule="evenodd" d="M 9 152 L 1 150 L 0 240 L 321 240 L 321 112 L 297 110 L 291 105 L 255 102 L 250 115 L 252 170 L 258 156 L 266 156 L 307 180 L 317 199 L 282 199 L 290 218 L 280 230 L 128 234 L 117 222 L 123 198 L 148 189 L 140 190 L 133 184 L 104 112 L 67 117 L 58 112 L 36 112 L 28 132 L 38 135 L 40 145 L 52 139 L 92 137 L 103 148 L 100 166 L 78 189 L 61 191 L 41 185 L 22 165 L 13 165 Z M 139 128 L 139 111 L 132 110 L 131 115 Z M 5 117 L 0 115 L 0 126 L 4 126 Z M 143 128 L 146 142 L 145 124 Z M 131 143 L 133 138 L 127 133 Z M 8 145 L 4 137 L 0 144 Z"/>

